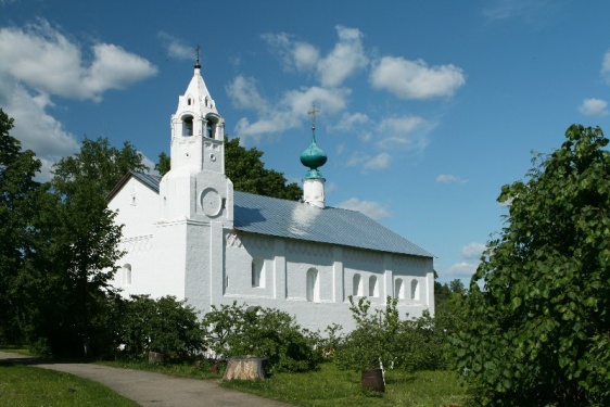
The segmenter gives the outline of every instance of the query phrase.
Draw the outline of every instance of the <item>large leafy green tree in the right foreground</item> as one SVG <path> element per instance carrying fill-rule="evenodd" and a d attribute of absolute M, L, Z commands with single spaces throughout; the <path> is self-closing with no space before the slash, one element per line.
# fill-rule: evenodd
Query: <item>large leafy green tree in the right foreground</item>
<path fill-rule="evenodd" d="M 608 139 L 577 125 L 565 138 L 498 198 L 506 226 L 453 343 L 476 404 L 610 405 Z"/>

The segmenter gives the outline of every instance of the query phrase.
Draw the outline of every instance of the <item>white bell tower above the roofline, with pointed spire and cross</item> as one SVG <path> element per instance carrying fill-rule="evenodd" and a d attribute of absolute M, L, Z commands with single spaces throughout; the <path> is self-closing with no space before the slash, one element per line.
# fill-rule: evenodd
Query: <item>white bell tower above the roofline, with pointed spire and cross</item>
<path fill-rule="evenodd" d="M 225 120 L 194 73 L 171 115 L 170 170 L 160 186 L 161 219 L 220 221 L 232 227 L 232 182 L 225 175 Z"/>

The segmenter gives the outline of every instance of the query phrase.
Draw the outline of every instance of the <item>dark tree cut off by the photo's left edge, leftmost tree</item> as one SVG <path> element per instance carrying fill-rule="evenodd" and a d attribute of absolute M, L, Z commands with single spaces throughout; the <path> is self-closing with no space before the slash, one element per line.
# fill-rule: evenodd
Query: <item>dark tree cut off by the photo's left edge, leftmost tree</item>
<path fill-rule="evenodd" d="M 21 278 L 33 251 L 31 219 L 40 185 L 40 162 L 10 135 L 13 119 L 0 109 L 0 343 L 25 340 L 25 302 Z"/>

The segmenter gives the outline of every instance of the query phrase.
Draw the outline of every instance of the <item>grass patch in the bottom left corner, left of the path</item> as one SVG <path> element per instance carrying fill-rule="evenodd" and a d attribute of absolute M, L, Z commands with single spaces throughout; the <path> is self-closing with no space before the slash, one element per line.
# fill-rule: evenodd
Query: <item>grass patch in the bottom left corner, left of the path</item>
<path fill-rule="evenodd" d="M 138 404 L 102 384 L 24 365 L 0 364 L 0 406 L 117 406 Z"/>

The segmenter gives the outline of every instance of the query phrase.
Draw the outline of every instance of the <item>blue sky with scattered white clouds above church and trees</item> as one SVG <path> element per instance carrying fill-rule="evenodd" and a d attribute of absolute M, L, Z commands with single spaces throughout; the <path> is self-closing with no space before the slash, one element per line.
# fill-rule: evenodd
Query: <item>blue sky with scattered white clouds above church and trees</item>
<path fill-rule="evenodd" d="M 573 123 L 610 131 L 609 15 L 601 0 L 0 0 L 0 107 L 41 180 L 86 137 L 153 167 L 200 44 L 230 138 L 301 182 L 315 103 L 327 205 L 468 283 L 532 153 Z"/>

